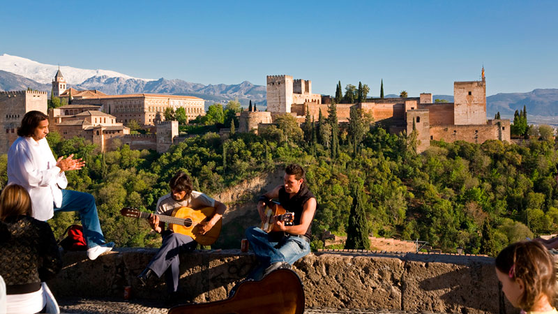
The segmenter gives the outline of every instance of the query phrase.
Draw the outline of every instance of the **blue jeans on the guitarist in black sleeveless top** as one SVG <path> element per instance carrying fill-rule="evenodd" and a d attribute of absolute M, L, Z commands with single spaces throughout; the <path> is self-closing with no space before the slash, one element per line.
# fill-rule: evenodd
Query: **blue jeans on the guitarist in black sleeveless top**
<path fill-rule="evenodd" d="M 261 263 L 262 270 L 275 262 L 287 262 L 292 265 L 310 253 L 310 244 L 306 240 L 299 237 L 270 239 L 269 234 L 259 227 L 246 229 L 246 239 Z"/>

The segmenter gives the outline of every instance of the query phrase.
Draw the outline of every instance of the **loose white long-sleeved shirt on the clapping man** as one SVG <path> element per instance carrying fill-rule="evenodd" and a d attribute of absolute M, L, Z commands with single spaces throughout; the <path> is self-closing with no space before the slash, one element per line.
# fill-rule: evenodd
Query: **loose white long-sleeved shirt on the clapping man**
<path fill-rule="evenodd" d="M 46 138 L 17 137 L 8 151 L 8 184 L 23 186 L 33 204 L 33 218 L 49 220 L 54 206 L 62 205 L 62 190 L 68 186 L 66 174 L 56 167 L 56 159 Z"/>

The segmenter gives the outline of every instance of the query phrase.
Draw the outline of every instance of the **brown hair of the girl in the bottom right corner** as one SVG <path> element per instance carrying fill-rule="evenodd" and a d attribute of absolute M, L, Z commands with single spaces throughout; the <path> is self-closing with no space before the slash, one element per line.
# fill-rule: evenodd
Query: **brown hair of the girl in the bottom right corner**
<path fill-rule="evenodd" d="M 509 278 L 519 278 L 525 285 L 518 306 L 531 311 L 541 293 L 552 304 L 555 298 L 556 271 L 547 249 L 537 241 L 510 244 L 496 257 L 496 268 Z"/>

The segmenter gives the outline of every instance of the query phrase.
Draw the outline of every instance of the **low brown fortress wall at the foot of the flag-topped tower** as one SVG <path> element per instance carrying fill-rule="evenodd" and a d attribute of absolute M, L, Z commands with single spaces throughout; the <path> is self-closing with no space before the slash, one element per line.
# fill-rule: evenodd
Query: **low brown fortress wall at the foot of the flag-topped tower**
<path fill-rule="evenodd" d="M 509 126 L 506 127 L 509 130 Z M 430 140 L 455 142 L 458 140 L 482 144 L 488 140 L 503 140 L 497 124 L 472 126 L 432 126 Z"/>

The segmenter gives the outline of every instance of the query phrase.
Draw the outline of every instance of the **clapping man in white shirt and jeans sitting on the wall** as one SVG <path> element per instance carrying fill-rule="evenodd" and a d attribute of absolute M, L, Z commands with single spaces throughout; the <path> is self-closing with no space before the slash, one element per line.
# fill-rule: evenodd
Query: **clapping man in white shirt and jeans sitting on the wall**
<path fill-rule="evenodd" d="M 8 183 L 23 186 L 33 200 L 33 218 L 49 220 L 54 211 L 79 211 L 87 242 L 87 257 L 95 260 L 112 250 L 100 230 L 95 198 L 89 193 L 66 190 L 64 172 L 80 170 L 85 165 L 73 154 L 54 158 L 47 142 L 49 122 L 43 112 L 27 112 L 17 129 L 17 140 L 8 151 Z"/>

